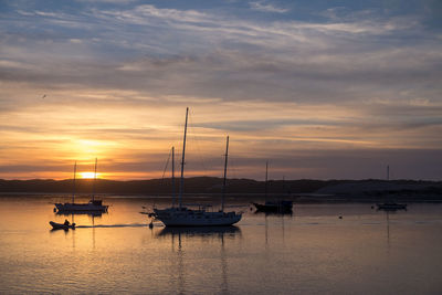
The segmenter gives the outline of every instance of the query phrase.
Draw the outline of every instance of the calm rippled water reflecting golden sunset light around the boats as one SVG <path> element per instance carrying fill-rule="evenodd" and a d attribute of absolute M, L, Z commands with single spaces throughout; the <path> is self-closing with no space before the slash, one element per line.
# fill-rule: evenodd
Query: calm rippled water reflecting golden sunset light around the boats
<path fill-rule="evenodd" d="M 234 228 L 169 230 L 146 226 L 149 199 L 107 197 L 107 214 L 74 219 L 53 212 L 61 200 L 0 196 L 1 294 L 442 293 L 441 204 L 295 204 L 266 217 L 244 201 Z M 65 218 L 84 228 L 50 230 Z"/>

